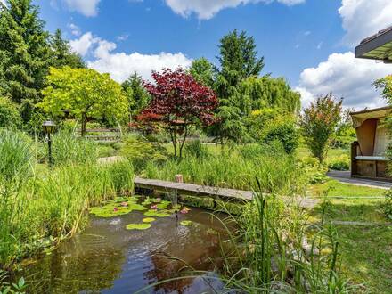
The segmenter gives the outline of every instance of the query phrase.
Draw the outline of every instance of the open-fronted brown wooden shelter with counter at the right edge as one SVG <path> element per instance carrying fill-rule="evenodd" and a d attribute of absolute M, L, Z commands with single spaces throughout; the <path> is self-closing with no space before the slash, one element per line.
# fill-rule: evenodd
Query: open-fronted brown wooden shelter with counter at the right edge
<path fill-rule="evenodd" d="M 386 157 L 390 140 L 383 124 L 391 111 L 391 107 L 382 107 L 350 113 L 357 137 L 351 145 L 351 176 L 391 180 Z"/>

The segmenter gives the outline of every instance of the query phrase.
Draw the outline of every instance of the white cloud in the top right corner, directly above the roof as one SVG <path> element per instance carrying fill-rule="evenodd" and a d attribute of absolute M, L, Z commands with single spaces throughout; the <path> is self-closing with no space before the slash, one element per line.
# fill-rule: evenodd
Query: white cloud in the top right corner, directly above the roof
<path fill-rule="evenodd" d="M 365 38 L 392 25 L 390 0 L 342 0 L 339 14 L 346 30 L 344 42 L 358 45 Z"/>

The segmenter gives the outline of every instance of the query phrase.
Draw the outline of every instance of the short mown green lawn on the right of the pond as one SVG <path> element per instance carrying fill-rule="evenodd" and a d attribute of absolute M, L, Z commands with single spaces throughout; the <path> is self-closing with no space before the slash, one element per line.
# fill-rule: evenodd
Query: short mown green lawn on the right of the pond
<path fill-rule="evenodd" d="M 329 189 L 330 196 L 346 196 L 347 199 L 331 199 L 325 211 L 325 219 L 388 224 L 380 211 L 381 199 L 354 198 L 380 196 L 385 190 L 331 180 L 316 184 L 311 191 L 317 195 Z M 331 189 L 334 188 L 334 189 Z M 349 198 L 353 197 L 353 198 Z M 319 220 L 322 207 L 314 208 L 311 215 Z M 357 293 L 392 293 L 392 226 L 388 225 L 336 225 L 339 233 L 342 271 L 355 285 Z"/>

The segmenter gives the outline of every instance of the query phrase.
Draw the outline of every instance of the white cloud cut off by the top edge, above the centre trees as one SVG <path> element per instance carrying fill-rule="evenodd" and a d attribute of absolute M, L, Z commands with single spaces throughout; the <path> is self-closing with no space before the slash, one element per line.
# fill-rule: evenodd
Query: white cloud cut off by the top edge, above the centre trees
<path fill-rule="evenodd" d="M 295 5 L 304 3 L 306 0 L 165 0 L 166 4 L 177 14 L 188 17 L 195 13 L 200 20 L 209 20 L 225 8 L 234 8 L 241 4 L 269 4 L 274 1 Z"/>

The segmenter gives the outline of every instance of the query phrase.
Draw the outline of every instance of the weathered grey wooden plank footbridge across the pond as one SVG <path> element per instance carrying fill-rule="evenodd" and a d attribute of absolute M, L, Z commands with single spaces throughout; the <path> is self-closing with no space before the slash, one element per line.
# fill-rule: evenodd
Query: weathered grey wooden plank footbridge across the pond
<path fill-rule="evenodd" d="M 154 179 L 135 178 L 135 186 L 139 188 L 158 190 L 158 191 L 176 191 L 186 195 L 211 196 L 232 200 L 252 200 L 253 193 L 251 191 L 226 189 L 219 187 L 203 186 L 199 184 L 184 184 L 167 182 Z"/>

